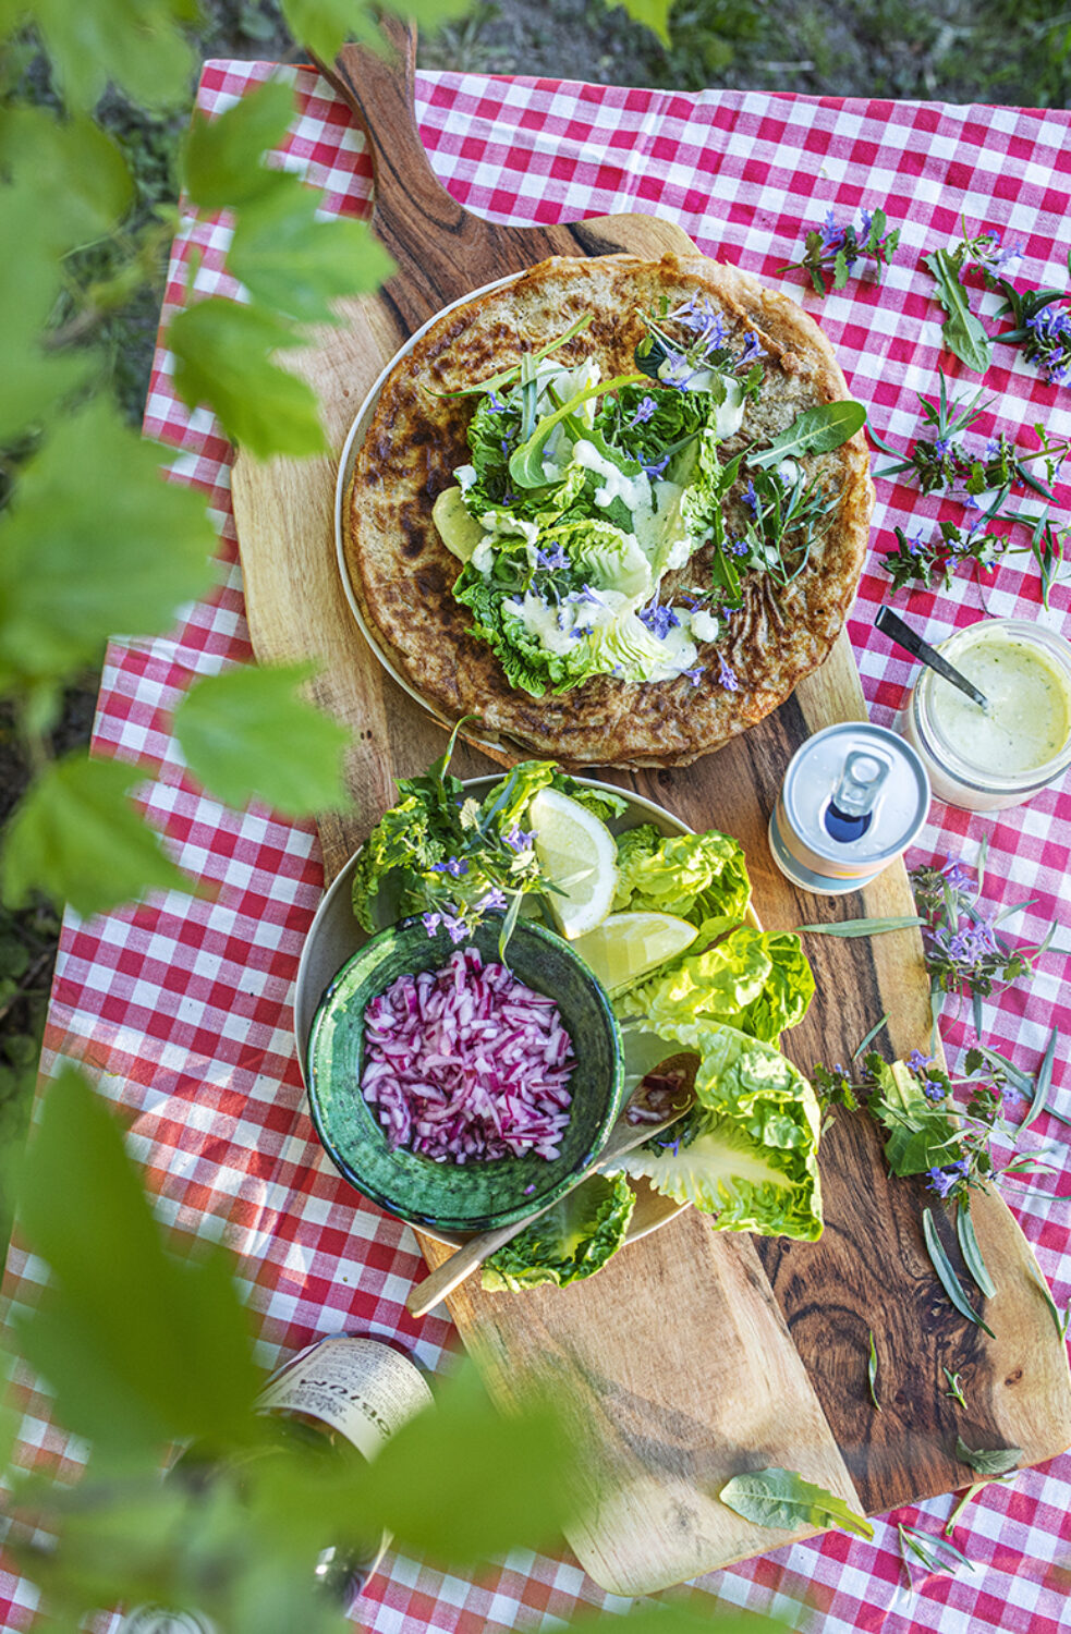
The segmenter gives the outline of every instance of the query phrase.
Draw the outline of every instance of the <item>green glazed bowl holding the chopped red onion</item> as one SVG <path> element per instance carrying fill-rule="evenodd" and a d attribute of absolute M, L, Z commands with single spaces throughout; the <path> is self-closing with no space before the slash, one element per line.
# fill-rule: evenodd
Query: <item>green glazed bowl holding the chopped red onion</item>
<path fill-rule="evenodd" d="M 484 964 L 497 964 L 500 928 L 502 915 L 487 915 L 463 946 L 474 944 Z M 595 1160 L 618 1114 L 625 1067 L 610 1000 L 587 964 L 561 936 L 520 920 L 507 962 L 518 980 L 556 1002 L 576 1057 L 561 1155 L 437 1163 L 391 1150 L 360 1090 L 365 1010 L 399 975 L 437 971 L 451 953 L 445 930 L 428 936 L 415 920 L 379 931 L 338 971 L 309 1036 L 309 1109 L 338 1173 L 373 1203 L 430 1232 L 477 1232 L 553 1203 Z"/>

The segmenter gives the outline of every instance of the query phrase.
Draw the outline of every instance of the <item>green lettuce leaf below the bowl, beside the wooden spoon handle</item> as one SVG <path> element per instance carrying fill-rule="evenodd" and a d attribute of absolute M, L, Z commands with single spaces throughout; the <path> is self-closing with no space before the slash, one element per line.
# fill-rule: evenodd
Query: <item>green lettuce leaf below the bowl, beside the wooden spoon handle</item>
<path fill-rule="evenodd" d="M 594 1276 L 625 1242 L 634 1203 L 625 1175 L 592 1175 L 484 1260 L 482 1286 L 517 1294 Z"/>

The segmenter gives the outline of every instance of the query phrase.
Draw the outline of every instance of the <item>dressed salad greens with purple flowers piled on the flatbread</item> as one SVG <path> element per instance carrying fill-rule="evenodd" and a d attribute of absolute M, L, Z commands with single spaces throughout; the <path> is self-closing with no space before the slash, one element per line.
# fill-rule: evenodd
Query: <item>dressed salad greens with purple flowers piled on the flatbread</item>
<path fill-rule="evenodd" d="M 731 342 L 706 296 L 672 309 L 662 297 L 644 315 L 634 373 L 602 381 L 594 358 L 554 359 L 587 322 L 459 394 L 479 397 L 471 462 L 433 510 L 464 564 L 453 596 L 510 686 L 536 698 L 594 675 L 698 685 L 711 645 L 719 685 L 734 691 L 716 644 L 742 605 L 741 580 L 760 572 L 790 585 L 803 572 L 840 500 L 821 454 L 858 431 L 865 410 L 809 408 L 723 461 L 762 389 L 757 337 Z M 705 546 L 713 565 L 682 588 Z"/>

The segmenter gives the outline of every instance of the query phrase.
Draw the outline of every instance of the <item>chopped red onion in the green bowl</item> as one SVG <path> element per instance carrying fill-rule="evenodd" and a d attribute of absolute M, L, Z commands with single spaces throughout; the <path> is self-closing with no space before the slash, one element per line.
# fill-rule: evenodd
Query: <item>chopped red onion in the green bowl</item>
<path fill-rule="evenodd" d="M 391 1149 L 437 1163 L 554 1159 L 572 1059 L 554 1000 L 464 948 L 371 1000 L 361 1095 Z"/>

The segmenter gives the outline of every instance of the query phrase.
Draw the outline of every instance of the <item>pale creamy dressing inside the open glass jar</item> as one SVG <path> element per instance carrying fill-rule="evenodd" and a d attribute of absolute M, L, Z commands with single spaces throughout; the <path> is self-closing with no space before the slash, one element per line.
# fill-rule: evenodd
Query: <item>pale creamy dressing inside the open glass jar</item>
<path fill-rule="evenodd" d="M 934 722 L 973 766 L 997 776 L 1053 760 L 1071 732 L 1071 683 L 1038 645 L 991 624 L 955 647 L 955 667 L 989 699 L 983 711 L 934 676 Z"/>

